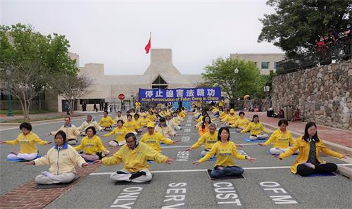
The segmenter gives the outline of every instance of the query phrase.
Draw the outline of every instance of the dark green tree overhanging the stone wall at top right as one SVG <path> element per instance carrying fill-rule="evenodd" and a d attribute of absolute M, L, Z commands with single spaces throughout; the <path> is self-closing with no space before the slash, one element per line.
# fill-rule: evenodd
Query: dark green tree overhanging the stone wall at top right
<path fill-rule="evenodd" d="M 276 13 L 259 19 L 263 28 L 258 42 L 272 42 L 291 58 L 315 46 L 319 35 L 346 28 L 351 0 L 269 0 Z"/>

